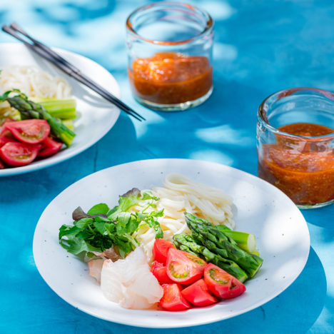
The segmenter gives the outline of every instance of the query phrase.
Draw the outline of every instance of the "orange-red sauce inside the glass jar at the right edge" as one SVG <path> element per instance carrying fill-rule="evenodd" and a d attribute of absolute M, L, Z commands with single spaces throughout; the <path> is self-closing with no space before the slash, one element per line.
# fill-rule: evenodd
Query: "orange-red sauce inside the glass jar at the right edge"
<path fill-rule="evenodd" d="M 297 136 L 325 136 L 333 128 L 313 123 L 293 123 L 278 130 Z M 312 206 L 334 199 L 333 138 L 289 138 L 263 144 L 258 176 L 288 195 L 294 203 Z"/>

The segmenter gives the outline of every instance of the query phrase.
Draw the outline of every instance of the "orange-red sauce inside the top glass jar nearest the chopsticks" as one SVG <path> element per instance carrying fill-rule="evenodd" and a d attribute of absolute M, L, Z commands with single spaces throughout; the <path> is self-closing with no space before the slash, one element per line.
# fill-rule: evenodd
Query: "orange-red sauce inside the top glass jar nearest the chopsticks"
<path fill-rule="evenodd" d="M 143 101 L 177 104 L 195 101 L 212 87 L 212 67 L 204 56 L 162 52 L 133 61 L 128 78 Z"/>

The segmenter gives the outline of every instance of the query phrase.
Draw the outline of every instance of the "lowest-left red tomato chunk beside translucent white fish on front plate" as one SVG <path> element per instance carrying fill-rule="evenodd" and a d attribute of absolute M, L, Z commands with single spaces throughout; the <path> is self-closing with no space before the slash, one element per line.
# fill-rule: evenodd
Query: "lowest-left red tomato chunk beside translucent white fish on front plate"
<path fill-rule="evenodd" d="M 163 296 L 159 301 L 159 305 L 165 310 L 186 310 L 191 305 L 183 298 L 181 294 L 181 286 L 173 284 L 163 284 Z"/>

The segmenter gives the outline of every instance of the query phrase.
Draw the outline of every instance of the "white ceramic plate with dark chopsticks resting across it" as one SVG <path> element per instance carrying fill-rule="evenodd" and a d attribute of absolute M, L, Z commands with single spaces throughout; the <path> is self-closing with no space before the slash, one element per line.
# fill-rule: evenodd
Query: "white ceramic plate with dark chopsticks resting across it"
<path fill-rule="evenodd" d="M 70 63 L 75 64 L 83 74 L 99 83 L 118 98 L 121 91 L 113 76 L 102 66 L 86 57 L 74 54 L 70 51 L 54 49 L 64 56 Z M 49 61 L 34 54 L 23 44 L 0 44 L 0 69 L 6 66 L 37 66 L 52 76 L 63 76 L 73 88 L 73 96 L 76 99 L 78 116 L 74 120 L 74 132 L 76 137 L 69 148 L 62 149 L 50 158 L 34 161 L 27 166 L 16 168 L 5 168 L 0 170 L 0 176 L 9 176 L 41 168 L 52 166 L 68 158 L 76 156 L 100 140 L 116 123 L 119 109 L 105 99 L 98 96 L 89 88 L 81 85 L 74 79 L 61 72 Z"/>

